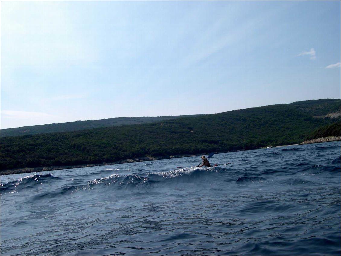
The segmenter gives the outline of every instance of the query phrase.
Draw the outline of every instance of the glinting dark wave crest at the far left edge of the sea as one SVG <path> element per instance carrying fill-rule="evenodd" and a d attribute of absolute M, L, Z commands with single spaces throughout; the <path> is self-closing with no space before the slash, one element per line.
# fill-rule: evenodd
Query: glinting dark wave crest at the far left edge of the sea
<path fill-rule="evenodd" d="M 0 185 L 1 192 L 10 192 L 27 188 L 34 188 L 42 183 L 48 183 L 53 180 L 60 179 L 59 177 L 47 174 L 34 174 L 26 177 L 22 177 L 19 180 L 8 182 Z"/>

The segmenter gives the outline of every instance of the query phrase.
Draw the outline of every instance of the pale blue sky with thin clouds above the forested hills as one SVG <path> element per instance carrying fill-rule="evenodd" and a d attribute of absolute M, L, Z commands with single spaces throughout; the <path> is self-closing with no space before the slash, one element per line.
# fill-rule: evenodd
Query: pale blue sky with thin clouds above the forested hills
<path fill-rule="evenodd" d="M 340 1 L 1 1 L 1 129 L 340 99 Z"/>

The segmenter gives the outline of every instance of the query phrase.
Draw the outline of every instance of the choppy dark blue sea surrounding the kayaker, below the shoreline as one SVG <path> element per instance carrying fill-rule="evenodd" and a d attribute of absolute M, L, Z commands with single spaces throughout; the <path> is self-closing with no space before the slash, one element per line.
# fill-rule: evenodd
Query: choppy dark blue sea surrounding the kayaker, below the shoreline
<path fill-rule="evenodd" d="M 200 162 L 1 176 L 1 255 L 340 254 L 340 142 Z"/>

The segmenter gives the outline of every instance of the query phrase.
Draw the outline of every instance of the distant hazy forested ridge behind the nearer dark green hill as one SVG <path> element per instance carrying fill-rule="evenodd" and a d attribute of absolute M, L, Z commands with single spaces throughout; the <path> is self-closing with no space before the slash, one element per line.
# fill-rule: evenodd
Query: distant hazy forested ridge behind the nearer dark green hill
<path fill-rule="evenodd" d="M 10 137 L 29 134 L 40 134 L 50 132 L 78 131 L 99 127 L 111 127 L 120 125 L 148 124 L 164 120 L 176 119 L 180 117 L 190 117 L 198 115 L 184 116 L 142 116 L 142 117 L 114 117 L 100 120 L 75 121 L 58 124 L 23 126 L 18 128 L 7 128 L 0 130 L 0 136 Z"/>

